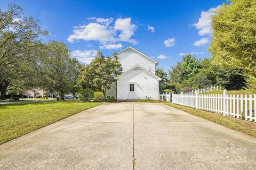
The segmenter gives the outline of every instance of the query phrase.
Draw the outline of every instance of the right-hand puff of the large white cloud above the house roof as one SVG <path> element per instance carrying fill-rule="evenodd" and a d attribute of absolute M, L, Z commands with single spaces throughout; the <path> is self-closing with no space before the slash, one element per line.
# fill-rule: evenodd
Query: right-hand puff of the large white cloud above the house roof
<path fill-rule="evenodd" d="M 130 39 L 134 35 L 134 31 L 137 28 L 135 24 L 131 24 L 131 20 L 131 18 L 117 19 L 114 29 L 116 31 L 121 31 L 121 33 L 118 35 L 118 41 L 126 41 L 137 44 L 136 40 Z"/>

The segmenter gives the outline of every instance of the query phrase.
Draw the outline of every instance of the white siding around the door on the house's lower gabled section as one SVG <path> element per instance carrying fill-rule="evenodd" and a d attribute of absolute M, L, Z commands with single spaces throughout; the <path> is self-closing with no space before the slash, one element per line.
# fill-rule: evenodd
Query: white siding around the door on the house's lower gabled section
<path fill-rule="evenodd" d="M 145 99 L 147 96 L 153 100 L 158 100 L 157 78 L 139 67 L 119 78 L 117 81 L 117 99 L 129 99 L 129 82 L 135 83 L 137 99 Z"/>

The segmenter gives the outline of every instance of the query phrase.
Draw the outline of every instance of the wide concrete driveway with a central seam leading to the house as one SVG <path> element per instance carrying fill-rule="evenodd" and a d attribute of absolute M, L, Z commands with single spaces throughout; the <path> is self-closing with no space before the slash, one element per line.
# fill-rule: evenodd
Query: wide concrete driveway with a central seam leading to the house
<path fill-rule="evenodd" d="M 0 169 L 256 169 L 256 139 L 164 104 L 102 104 L 1 145 Z"/>

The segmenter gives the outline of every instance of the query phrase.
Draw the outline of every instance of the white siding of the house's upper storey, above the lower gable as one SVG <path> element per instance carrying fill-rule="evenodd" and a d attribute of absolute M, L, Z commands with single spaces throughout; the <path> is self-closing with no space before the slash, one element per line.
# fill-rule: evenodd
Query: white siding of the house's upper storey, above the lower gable
<path fill-rule="evenodd" d="M 151 73 L 156 74 L 155 62 L 141 55 L 140 53 L 135 52 L 131 48 L 127 48 L 122 53 L 118 54 L 118 58 L 119 58 L 118 61 L 122 64 L 123 72 L 126 72 L 127 70 L 131 69 L 135 65 L 140 65 L 141 67 L 143 67 L 148 71 L 150 69 Z"/>

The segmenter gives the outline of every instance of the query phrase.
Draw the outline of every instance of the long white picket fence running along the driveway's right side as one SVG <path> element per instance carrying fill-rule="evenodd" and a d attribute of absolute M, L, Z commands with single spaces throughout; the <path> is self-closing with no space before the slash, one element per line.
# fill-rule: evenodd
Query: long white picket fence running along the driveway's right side
<path fill-rule="evenodd" d="M 226 89 L 218 95 L 172 94 L 172 103 L 256 122 L 256 95 L 228 95 Z"/>

